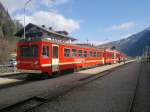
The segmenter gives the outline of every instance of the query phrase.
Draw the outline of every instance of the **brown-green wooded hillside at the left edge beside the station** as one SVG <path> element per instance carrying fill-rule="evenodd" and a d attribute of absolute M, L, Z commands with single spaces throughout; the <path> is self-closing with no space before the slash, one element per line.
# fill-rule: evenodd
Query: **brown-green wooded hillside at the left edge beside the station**
<path fill-rule="evenodd" d="M 22 25 L 11 19 L 8 11 L 0 3 L 0 64 L 5 63 L 12 52 L 15 51 L 16 38 L 14 33 Z"/>

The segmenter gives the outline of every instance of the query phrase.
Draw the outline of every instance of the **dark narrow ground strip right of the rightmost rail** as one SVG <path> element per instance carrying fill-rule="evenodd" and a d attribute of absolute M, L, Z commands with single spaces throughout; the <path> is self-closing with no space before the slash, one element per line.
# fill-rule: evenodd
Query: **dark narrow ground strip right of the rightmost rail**
<path fill-rule="evenodd" d="M 133 112 L 150 112 L 150 63 L 142 63 Z"/>

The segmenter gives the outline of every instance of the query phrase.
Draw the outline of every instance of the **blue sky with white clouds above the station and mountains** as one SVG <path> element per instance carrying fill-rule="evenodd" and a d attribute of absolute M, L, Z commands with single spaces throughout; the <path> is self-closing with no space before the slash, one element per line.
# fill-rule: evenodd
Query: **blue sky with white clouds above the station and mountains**
<path fill-rule="evenodd" d="M 28 0 L 0 0 L 11 17 L 23 23 Z M 150 26 L 150 0 L 31 0 L 26 24 L 66 30 L 79 42 L 102 44 L 131 36 Z"/>

